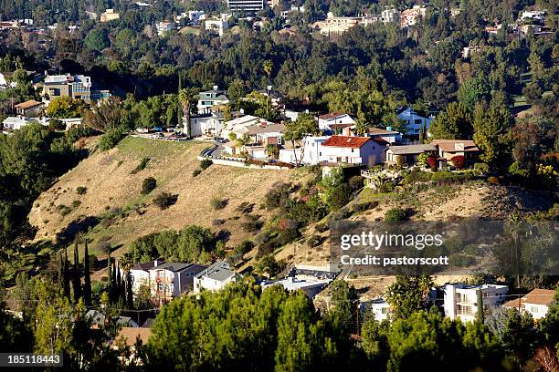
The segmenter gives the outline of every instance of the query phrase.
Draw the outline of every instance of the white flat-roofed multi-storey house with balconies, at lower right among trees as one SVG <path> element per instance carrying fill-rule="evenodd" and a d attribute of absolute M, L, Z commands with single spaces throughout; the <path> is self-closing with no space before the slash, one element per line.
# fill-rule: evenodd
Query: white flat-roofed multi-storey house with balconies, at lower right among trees
<path fill-rule="evenodd" d="M 501 305 L 509 292 L 507 285 L 498 284 L 446 284 L 444 286 L 445 315 L 451 320 L 471 322 L 478 315 L 478 295 L 481 291 L 483 308 Z"/>

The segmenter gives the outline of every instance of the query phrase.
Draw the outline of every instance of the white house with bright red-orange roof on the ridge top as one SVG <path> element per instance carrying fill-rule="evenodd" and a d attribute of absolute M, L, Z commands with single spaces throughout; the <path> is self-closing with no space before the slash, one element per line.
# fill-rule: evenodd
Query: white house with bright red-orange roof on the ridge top
<path fill-rule="evenodd" d="M 322 142 L 321 147 L 321 162 L 376 164 L 385 159 L 385 143 L 379 143 L 370 137 L 336 135 Z"/>

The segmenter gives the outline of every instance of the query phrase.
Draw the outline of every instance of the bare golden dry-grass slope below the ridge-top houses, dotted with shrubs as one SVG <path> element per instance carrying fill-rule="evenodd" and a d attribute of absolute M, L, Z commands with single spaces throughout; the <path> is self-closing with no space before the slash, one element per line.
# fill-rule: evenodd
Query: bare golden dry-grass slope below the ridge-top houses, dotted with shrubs
<path fill-rule="evenodd" d="M 100 223 L 88 233 L 93 252 L 97 243 L 106 240 L 113 247 L 121 247 L 116 253 L 119 255 L 139 236 L 163 229 L 178 230 L 188 224 L 227 230 L 231 233 L 228 244 L 234 245 L 248 236 L 241 228 L 244 217 L 236 211 L 239 204 L 254 203 L 252 214 L 264 220 L 267 212 L 260 205 L 273 183 L 305 179 L 304 171 L 249 170 L 219 165 L 212 165 L 194 177 L 193 171 L 199 165 L 196 156 L 207 146 L 197 141 L 127 138 L 115 149 L 94 151 L 34 203 L 29 219 L 38 227 L 36 238 L 54 239 L 69 226 L 99 217 Z M 133 174 L 143 158 L 150 159 L 147 166 Z M 146 177 L 154 177 L 157 188 L 142 195 L 142 181 Z M 79 187 L 86 187 L 87 192 L 80 195 Z M 153 205 L 154 196 L 162 191 L 178 194 L 177 202 L 163 211 Z M 214 197 L 227 199 L 227 206 L 215 211 L 210 205 Z M 214 226 L 217 219 L 222 224 Z"/>

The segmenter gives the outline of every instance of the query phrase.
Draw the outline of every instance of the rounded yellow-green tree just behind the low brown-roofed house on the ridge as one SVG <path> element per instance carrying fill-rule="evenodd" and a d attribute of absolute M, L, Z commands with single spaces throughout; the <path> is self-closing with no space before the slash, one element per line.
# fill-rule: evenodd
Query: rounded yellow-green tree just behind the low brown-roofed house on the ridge
<path fill-rule="evenodd" d="M 429 126 L 429 134 L 436 140 L 468 140 L 472 132 L 469 109 L 461 102 L 449 103 Z"/>

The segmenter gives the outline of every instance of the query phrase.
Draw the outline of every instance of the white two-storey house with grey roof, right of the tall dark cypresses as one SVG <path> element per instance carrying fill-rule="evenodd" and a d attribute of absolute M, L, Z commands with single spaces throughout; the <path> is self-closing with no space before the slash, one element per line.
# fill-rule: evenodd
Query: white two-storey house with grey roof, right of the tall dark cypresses
<path fill-rule="evenodd" d="M 197 263 L 136 263 L 130 269 L 132 292 L 138 294 L 140 286 L 150 287 L 153 298 L 160 303 L 170 301 L 194 287 L 196 274 L 206 269 Z"/>

